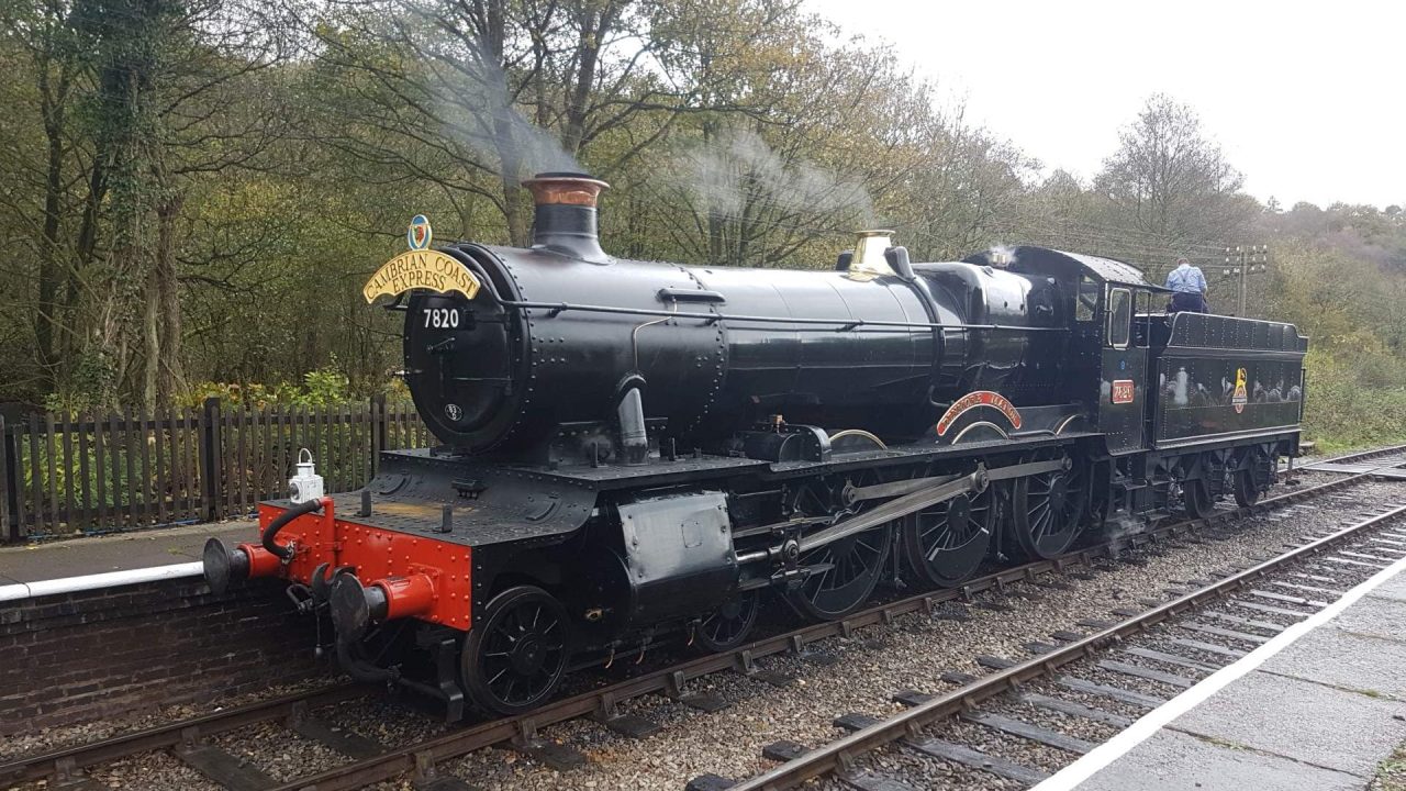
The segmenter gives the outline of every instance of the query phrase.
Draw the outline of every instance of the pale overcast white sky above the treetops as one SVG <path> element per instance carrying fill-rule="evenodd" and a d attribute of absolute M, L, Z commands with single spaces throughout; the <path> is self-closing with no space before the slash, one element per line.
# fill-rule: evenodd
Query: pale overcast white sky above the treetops
<path fill-rule="evenodd" d="M 1191 104 L 1260 200 L 1406 204 L 1406 4 L 807 0 L 1092 176 L 1156 91 Z"/>

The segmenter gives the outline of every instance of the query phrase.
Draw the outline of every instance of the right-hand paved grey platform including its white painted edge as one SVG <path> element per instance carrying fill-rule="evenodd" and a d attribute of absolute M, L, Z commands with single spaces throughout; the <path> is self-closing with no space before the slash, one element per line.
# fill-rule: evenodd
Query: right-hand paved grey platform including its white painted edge
<path fill-rule="evenodd" d="M 1406 559 L 1036 791 L 1348 791 L 1406 743 Z"/>

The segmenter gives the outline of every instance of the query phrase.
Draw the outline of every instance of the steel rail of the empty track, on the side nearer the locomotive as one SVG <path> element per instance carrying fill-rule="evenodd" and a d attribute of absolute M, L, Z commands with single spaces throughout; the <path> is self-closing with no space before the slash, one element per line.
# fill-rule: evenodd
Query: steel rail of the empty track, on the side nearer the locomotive
<path fill-rule="evenodd" d="M 730 791 L 779 791 L 782 788 L 792 788 L 806 780 L 820 777 L 837 768 L 842 768 L 862 753 L 872 752 L 876 747 L 882 747 L 908 736 L 915 736 L 918 729 L 925 725 L 956 716 L 981 701 L 1012 691 L 1036 678 L 1054 676 L 1056 670 L 1064 664 L 1088 657 L 1170 618 L 1195 611 L 1209 602 L 1219 601 L 1226 594 L 1244 587 L 1247 583 L 1257 580 L 1270 571 L 1292 564 L 1305 557 L 1319 555 L 1320 552 L 1340 543 L 1346 543 L 1357 538 L 1364 531 L 1392 521 L 1403 514 L 1406 514 L 1406 505 L 1399 505 L 1385 514 L 1371 517 L 1355 525 L 1343 528 L 1336 533 L 1313 540 L 1301 548 L 1291 549 L 1282 555 L 1271 557 L 1270 560 L 1251 566 L 1250 569 L 1237 571 L 1236 574 L 1177 597 L 1163 605 L 1140 612 L 1084 639 L 1066 643 L 1056 650 L 1029 659 L 1005 670 L 983 676 L 981 678 L 977 678 L 976 681 L 972 681 L 957 690 L 952 690 L 901 714 L 890 716 L 889 719 L 855 730 L 853 733 L 810 750 L 803 756 L 776 766 L 749 780 L 737 783 L 728 788 Z"/>

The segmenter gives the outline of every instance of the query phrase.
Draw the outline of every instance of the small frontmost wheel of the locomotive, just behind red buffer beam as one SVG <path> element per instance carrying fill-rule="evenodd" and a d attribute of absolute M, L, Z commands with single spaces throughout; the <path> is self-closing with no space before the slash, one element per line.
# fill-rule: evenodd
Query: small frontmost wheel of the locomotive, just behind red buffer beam
<path fill-rule="evenodd" d="M 460 657 L 464 687 L 495 714 L 547 702 L 567 669 L 567 611 L 551 594 L 519 586 L 494 597 Z"/>

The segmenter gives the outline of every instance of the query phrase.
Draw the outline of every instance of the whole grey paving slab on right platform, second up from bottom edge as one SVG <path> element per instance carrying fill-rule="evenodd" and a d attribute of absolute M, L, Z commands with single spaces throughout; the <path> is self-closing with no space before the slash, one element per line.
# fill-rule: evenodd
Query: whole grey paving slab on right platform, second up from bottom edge
<path fill-rule="evenodd" d="M 1168 728 L 1324 768 L 1371 776 L 1406 740 L 1406 704 L 1250 673 Z"/>

